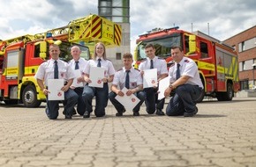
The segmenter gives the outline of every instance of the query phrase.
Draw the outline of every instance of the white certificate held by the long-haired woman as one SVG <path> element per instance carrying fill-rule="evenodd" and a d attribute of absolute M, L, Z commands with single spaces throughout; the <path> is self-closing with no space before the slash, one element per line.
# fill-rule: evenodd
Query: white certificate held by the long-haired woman
<path fill-rule="evenodd" d="M 90 79 L 92 83 L 89 83 L 89 86 L 103 88 L 103 81 L 104 78 L 104 71 L 105 68 L 98 68 L 98 67 L 91 67 L 90 69 Z"/>

